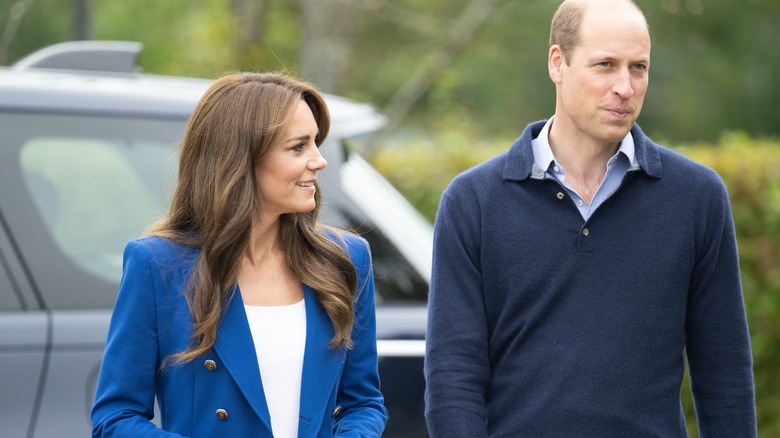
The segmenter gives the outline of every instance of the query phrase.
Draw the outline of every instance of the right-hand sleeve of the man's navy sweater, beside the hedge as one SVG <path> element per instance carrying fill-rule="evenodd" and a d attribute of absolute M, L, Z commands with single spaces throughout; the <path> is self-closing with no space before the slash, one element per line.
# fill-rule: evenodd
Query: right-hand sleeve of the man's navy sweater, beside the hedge
<path fill-rule="evenodd" d="M 706 202 L 686 320 L 699 436 L 755 437 L 750 339 L 725 187 Z"/>

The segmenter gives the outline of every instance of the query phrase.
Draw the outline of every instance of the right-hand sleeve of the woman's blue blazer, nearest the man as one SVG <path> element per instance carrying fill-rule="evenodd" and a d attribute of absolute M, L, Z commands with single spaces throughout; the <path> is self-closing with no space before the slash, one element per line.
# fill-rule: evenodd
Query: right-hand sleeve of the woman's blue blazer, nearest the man
<path fill-rule="evenodd" d="M 376 309 L 374 273 L 368 242 L 349 241 L 350 254 L 358 272 L 353 348 L 347 353 L 339 384 L 334 435 L 339 437 L 379 437 L 387 421 L 387 409 L 379 390 L 376 349 Z"/>

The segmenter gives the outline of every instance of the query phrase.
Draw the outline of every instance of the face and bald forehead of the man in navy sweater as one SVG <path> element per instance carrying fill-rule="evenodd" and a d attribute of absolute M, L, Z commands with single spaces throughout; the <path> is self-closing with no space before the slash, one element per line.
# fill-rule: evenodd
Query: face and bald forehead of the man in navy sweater
<path fill-rule="evenodd" d="M 556 57 L 555 47 L 550 52 L 558 89 L 555 123 L 564 123 L 575 141 L 614 144 L 642 109 L 650 36 L 640 12 L 627 2 L 596 2 L 587 8 L 568 63 L 562 53 Z"/>

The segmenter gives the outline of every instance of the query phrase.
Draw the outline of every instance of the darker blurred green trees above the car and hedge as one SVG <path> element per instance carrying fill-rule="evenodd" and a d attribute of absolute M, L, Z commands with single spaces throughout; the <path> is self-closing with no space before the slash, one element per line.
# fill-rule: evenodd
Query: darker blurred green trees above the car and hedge
<path fill-rule="evenodd" d="M 463 12 L 491 1 L 487 21 L 400 122 L 426 130 L 462 113 L 476 122 L 477 138 L 494 138 L 552 114 L 547 39 L 560 0 L 0 0 L 0 65 L 86 34 L 143 42 L 140 63 L 151 73 L 297 73 L 303 45 L 329 36 L 305 38 L 305 5 L 324 1 L 343 13 L 322 29 L 347 29 L 347 56 L 333 57 L 340 79 L 319 84 L 316 69 L 305 78 L 325 91 L 384 108 L 446 45 Z M 724 129 L 780 135 L 780 1 L 636 2 L 653 40 L 646 132 L 674 142 L 714 142 Z M 75 18 L 76 4 L 87 6 L 87 20 Z M 262 14 L 247 20 L 238 6 L 247 4 Z M 82 21 L 86 29 L 76 29 Z M 258 34 L 250 42 L 242 38 L 247 21 Z"/>

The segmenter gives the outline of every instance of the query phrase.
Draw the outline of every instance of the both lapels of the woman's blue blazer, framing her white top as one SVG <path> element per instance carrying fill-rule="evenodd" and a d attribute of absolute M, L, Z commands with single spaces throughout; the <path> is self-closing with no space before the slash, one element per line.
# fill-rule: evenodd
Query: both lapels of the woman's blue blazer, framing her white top
<path fill-rule="evenodd" d="M 346 351 L 327 347 L 333 337 L 333 324 L 309 286 L 303 286 L 303 294 L 306 301 L 306 346 L 298 436 L 308 437 L 316 436 L 320 429 L 323 413 L 335 385 L 338 384 L 338 375 L 346 358 Z M 268 426 L 270 435 L 271 415 L 263 391 L 244 301 L 238 288 L 220 321 L 214 351 L 257 416 Z"/>

